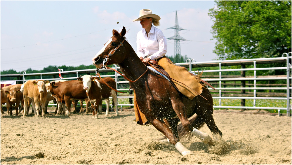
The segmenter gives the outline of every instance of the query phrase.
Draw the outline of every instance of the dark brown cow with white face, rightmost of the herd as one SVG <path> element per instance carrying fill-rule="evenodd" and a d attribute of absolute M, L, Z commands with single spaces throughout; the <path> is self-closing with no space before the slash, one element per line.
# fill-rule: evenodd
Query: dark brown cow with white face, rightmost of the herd
<path fill-rule="evenodd" d="M 109 111 L 109 97 L 112 96 L 115 106 L 116 106 L 116 115 L 119 115 L 118 112 L 118 101 L 117 101 L 117 92 L 109 88 L 102 80 L 99 80 L 98 78 L 92 77 L 90 75 L 84 75 L 81 77 L 78 77 L 77 80 L 82 81 L 83 83 L 83 89 L 86 90 L 86 94 L 88 96 L 88 99 L 91 101 L 91 103 L 95 102 L 95 104 L 99 104 L 99 112 L 101 112 L 102 109 L 102 100 L 105 99 L 107 103 L 107 109 L 105 112 L 105 115 L 108 115 Z M 107 84 L 109 84 L 112 88 L 117 89 L 116 82 L 114 79 L 110 77 L 106 77 L 103 79 Z M 100 91 L 100 92 L 98 92 Z M 98 96 L 98 94 L 101 94 L 101 96 Z M 101 101 L 95 101 L 95 98 L 101 97 Z M 96 105 L 95 105 L 96 106 Z M 95 119 L 97 116 L 97 108 Z"/>

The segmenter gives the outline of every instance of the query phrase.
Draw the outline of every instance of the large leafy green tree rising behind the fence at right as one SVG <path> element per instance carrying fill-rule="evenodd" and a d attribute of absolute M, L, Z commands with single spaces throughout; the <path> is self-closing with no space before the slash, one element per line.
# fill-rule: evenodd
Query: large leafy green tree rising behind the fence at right
<path fill-rule="evenodd" d="M 220 60 L 291 52 L 291 1 L 215 1 L 209 10 Z"/>

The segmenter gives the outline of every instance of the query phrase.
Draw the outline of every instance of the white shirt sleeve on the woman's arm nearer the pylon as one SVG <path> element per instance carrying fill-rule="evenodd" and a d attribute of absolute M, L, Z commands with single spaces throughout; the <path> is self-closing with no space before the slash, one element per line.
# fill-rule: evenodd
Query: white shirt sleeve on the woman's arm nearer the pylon
<path fill-rule="evenodd" d="M 149 58 L 152 60 L 159 59 L 160 57 L 165 56 L 166 52 L 167 52 L 167 42 L 166 42 L 166 38 L 163 35 L 162 31 L 156 30 L 155 35 L 157 36 L 159 50 L 157 52 L 153 53 L 153 55 L 149 56 Z"/>

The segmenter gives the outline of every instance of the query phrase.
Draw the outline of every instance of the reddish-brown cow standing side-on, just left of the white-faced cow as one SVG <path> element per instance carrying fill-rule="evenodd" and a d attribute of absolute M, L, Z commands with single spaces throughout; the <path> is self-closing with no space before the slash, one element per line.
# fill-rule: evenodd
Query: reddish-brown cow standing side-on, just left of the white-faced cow
<path fill-rule="evenodd" d="M 83 89 L 83 84 L 78 80 L 64 82 L 53 81 L 49 86 L 49 91 L 58 99 L 58 101 L 65 101 L 67 106 L 66 115 L 68 116 L 71 113 L 72 100 L 84 100 L 87 98 L 86 91 Z M 59 109 L 57 114 L 59 113 Z"/>

